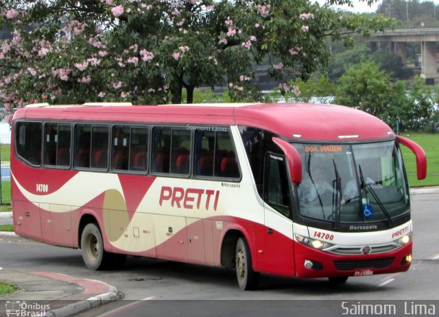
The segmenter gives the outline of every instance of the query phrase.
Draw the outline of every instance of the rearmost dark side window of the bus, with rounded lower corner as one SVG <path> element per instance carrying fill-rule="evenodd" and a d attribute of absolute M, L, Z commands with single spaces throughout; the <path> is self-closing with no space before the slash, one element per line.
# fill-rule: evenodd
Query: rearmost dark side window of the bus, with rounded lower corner
<path fill-rule="evenodd" d="M 18 122 L 15 127 L 17 154 L 33 165 L 41 164 L 43 127 L 36 122 Z"/>

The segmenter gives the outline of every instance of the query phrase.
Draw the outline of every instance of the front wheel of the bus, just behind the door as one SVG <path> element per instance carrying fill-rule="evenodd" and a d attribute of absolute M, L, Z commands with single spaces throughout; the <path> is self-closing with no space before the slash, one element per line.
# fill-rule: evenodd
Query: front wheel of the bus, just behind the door
<path fill-rule="evenodd" d="M 239 287 L 242 290 L 254 290 L 259 283 L 259 272 L 254 272 L 252 255 L 244 238 L 239 238 L 235 251 L 235 268 Z"/>

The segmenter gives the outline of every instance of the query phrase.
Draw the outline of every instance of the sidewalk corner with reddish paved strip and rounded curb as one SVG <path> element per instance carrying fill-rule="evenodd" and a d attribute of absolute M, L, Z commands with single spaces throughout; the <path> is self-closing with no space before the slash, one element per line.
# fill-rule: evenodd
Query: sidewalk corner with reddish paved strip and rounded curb
<path fill-rule="evenodd" d="M 0 316 L 66 317 L 121 299 L 114 286 L 53 272 L 0 270 L 0 279 L 19 286 L 14 294 L 0 297 Z"/>

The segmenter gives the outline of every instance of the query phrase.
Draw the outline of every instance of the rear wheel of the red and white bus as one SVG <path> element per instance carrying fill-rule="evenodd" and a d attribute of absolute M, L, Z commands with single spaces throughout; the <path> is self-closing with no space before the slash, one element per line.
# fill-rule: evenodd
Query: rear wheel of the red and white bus
<path fill-rule="evenodd" d="M 82 231 L 81 251 L 87 268 L 91 270 L 106 268 L 110 254 L 104 250 L 101 231 L 94 223 L 89 223 Z"/>

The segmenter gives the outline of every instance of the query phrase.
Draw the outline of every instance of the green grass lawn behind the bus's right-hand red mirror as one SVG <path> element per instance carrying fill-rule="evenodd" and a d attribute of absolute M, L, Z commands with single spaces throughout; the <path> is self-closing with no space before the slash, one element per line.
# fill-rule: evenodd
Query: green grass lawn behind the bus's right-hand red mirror
<path fill-rule="evenodd" d="M 439 185 L 439 134 L 423 134 L 418 132 L 401 133 L 401 136 L 418 143 L 427 155 L 427 178 L 418 180 L 416 178 L 416 158 L 412 151 L 401 147 L 407 170 L 407 177 L 411 187 L 416 186 L 438 186 Z"/>

